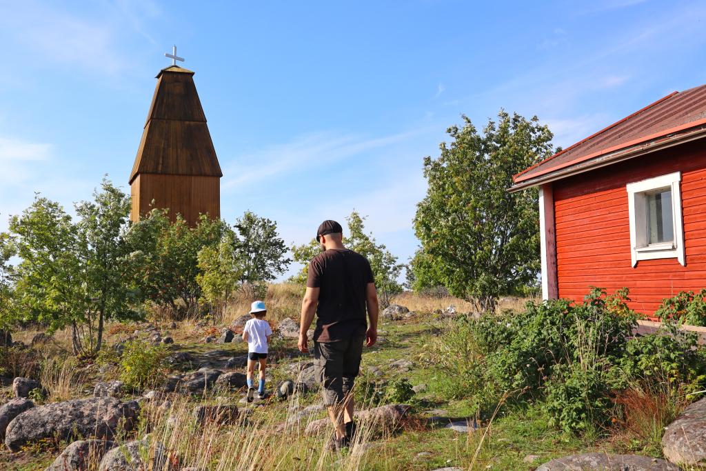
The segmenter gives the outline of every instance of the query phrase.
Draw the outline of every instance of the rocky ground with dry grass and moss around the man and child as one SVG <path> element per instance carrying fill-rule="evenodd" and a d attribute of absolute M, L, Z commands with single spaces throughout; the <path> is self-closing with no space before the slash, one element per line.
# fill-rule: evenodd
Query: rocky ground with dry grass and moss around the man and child
<path fill-rule="evenodd" d="M 130 338 L 165 345 L 164 376 L 135 390 L 126 388 L 109 362 L 77 364 L 67 373 L 71 384 L 61 400 L 54 400 L 57 384 L 4 378 L 0 469 L 248 469 L 252 463 L 244 457 L 264 459 L 258 453 L 277 459 L 254 469 L 678 470 L 672 463 L 706 463 L 702 401 L 666 430 L 662 451 L 650 456 L 635 454 L 639 444 L 629 441 L 561 434 L 548 427 L 539 409 L 505 407 L 496 417 L 476 417 L 470 403 L 444 400 L 426 354 L 429 342 L 457 315 L 453 307 L 423 314 L 402 306 L 385 310 L 378 345 L 365 350 L 357 383 L 357 420 L 364 432 L 354 450 L 343 454 L 325 451 L 330 424 L 312 359 L 296 349 L 298 326 L 292 319 L 276 325 L 268 398 L 251 404 L 244 400 L 247 347 L 237 335 L 249 316 L 228 326 L 111 326 L 107 343 L 118 354 Z M 16 333 L 15 341 L 30 344 L 32 337 Z M 37 349 L 61 343 L 34 340 Z M 405 393 L 401 379 L 412 391 Z M 395 400 L 402 393 L 405 400 Z M 264 444 L 255 446 L 249 436 Z M 211 448 L 205 441 L 220 444 Z M 226 459 L 216 448 L 228 446 L 234 452 Z"/>

